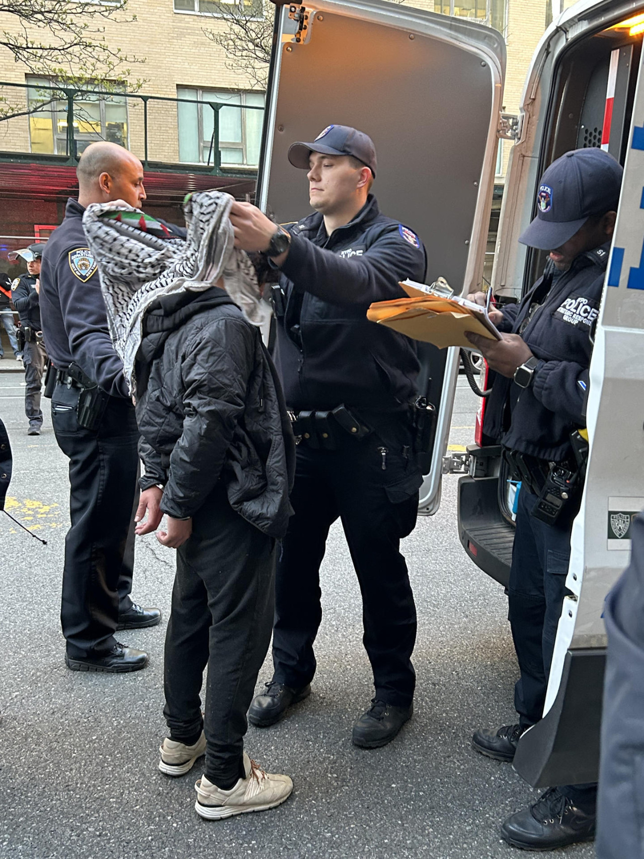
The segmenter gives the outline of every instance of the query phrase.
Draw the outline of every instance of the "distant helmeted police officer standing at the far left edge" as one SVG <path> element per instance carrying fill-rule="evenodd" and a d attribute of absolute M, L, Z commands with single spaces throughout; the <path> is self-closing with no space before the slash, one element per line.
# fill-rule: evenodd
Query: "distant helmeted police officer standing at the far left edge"
<path fill-rule="evenodd" d="M 11 283 L 14 307 L 20 316 L 25 344 L 22 362 L 25 365 L 25 413 L 29 421 L 27 436 L 39 436 L 42 427 L 40 389 L 45 372 L 47 353 L 43 342 L 39 308 L 40 259 L 45 245 L 29 245 L 9 253 L 10 259 L 21 256 L 27 263 L 27 274 L 16 277 Z"/>

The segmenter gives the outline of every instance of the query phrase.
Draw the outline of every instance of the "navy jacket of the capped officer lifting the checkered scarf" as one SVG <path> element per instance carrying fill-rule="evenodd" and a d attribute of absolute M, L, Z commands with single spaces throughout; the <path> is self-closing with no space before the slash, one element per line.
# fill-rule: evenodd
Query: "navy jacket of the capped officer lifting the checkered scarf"
<path fill-rule="evenodd" d="M 331 235 L 319 212 L 286 228 L 291 245 L 274 290 L 274 357 L 289 409 L 403 410 L 416 394 L 416 347 L 369 322 L 367 310 L 404 297 L 398 281 L 424 279 L 421 241 L 381 215 L 372 195 Z"/>

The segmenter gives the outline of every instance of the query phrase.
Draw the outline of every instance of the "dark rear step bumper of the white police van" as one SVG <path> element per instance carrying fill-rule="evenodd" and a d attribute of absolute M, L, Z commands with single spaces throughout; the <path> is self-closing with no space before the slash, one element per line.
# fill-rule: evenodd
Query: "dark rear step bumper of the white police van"
<path fill-rule="evenodd" d="M 472 561 L 507 588 L 514 526 L 501 515 L 499 478 L 459 479 L 459 539 Z"/>

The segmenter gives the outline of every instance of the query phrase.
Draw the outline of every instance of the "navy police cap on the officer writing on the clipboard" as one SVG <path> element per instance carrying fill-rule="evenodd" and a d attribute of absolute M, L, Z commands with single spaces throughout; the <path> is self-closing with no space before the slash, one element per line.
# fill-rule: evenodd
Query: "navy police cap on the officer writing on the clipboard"
<path fill-rule="evenodd" d="M 603 149 L 573 149 L 557 158 L 541 177 L 537 217 L 519 241 L 544 251 L 562 247 L 590 216 L 617 209 L 622 174 Z"/>

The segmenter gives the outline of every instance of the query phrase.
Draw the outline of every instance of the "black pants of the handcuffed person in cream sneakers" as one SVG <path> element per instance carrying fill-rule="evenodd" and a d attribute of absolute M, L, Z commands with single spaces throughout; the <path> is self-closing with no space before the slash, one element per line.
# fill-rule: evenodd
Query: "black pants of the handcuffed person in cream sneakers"
<path fill-rule="evenodd" d="M 236 514 L 222 488 L 192 517 L 191 538 L 177 550 L 163 714 L 173 740 L 192 741 L 204 724 L 205 774 L 219 786 L 242 774 L 246 711 L 270 643 L 275 560 L 276 541 Z"/>

